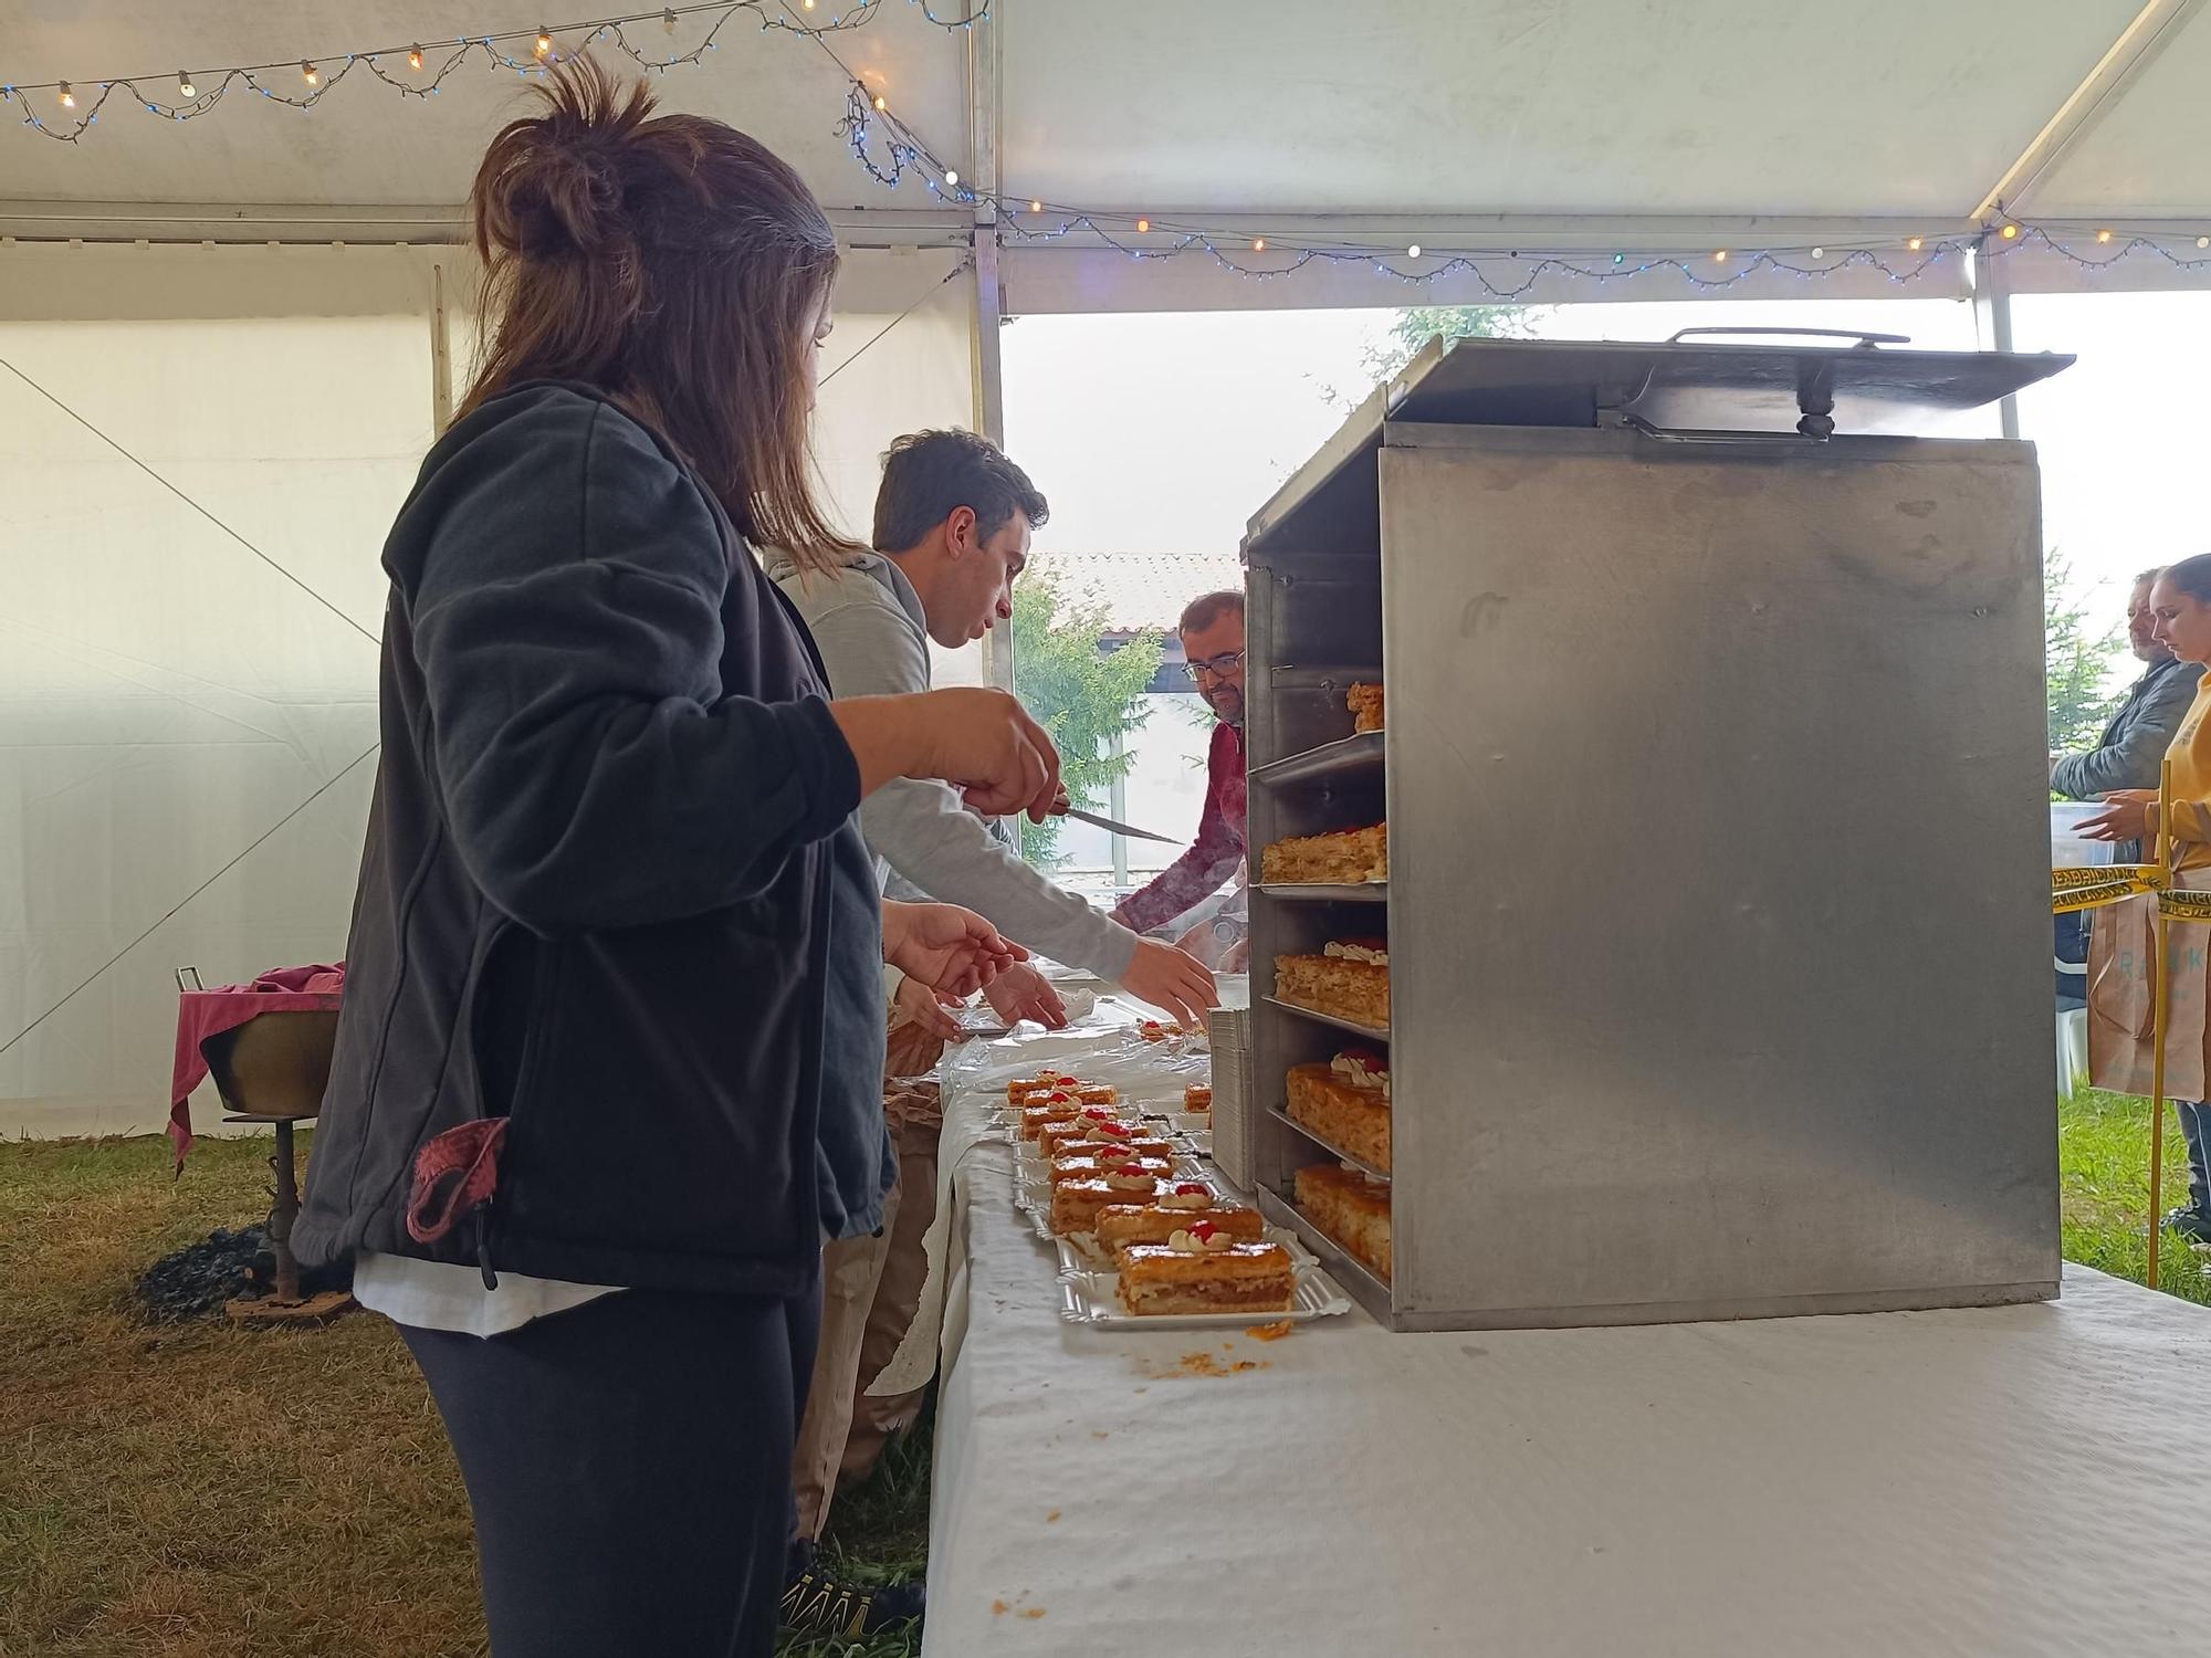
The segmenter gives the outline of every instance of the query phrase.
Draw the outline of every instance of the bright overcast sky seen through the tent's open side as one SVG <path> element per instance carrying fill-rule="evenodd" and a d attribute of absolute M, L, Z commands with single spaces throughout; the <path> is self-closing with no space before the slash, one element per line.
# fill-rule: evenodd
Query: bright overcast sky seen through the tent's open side
<path fill-rule="evenodd" d="M 1389 312 L 1026 316 L 1004 336 L 1006 440 L 1052 500 L 1041 548 L 1234 550 L 1245 520 L 1366 391 Z M 1798 323 L 1972 347 L 1952 301 L 1568 305 L 1550 338 L 1665 338 L 1709 323 Z M 2041 449 L 2045 544 L 2116 612 L 2145 564 L 2211 550 L 2211 294 L 2027 296 L 2023 351 L 2081 363 L 2021 400 Z M 1988 431 L 1994 431 L 1990 418 Z"/>

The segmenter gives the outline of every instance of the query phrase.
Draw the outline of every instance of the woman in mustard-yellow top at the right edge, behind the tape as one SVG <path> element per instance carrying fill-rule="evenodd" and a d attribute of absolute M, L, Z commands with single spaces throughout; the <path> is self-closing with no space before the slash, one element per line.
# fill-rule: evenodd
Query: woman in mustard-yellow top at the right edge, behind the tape
<path fill-rule="evenodd" d="M 2211 553 L 2180 559 L 2149 590 L 2156 617 L 2156 639 L 2180 661 L 2211 665 Z M 2171 818 L 2173 871 L 2211 871 L 2211 681 L 2196 690 L 2196 703 L 2165 752 Z M 2081 825 L 2092 840 L 2140 840 L 2142 858 L 2156 856 L 2158 791 L 2118 789 L 2105 796 L 2105 811 Z M 2180 886 L 2211 884 L 2180 880 Z M 2200 1039 L 2202 1032 L 2198 1032 Z M 2202 1101 L 2173 1101 L 2180 1112 L 2180 1136 L 2189 1143 L 2189 1203 L 2165 1216 L 2165 1225 L 2189 1242 L 2211 1245 L 2211 1158 L 2204 1141 L 2211 1136 L 2211 1108 Z"/>

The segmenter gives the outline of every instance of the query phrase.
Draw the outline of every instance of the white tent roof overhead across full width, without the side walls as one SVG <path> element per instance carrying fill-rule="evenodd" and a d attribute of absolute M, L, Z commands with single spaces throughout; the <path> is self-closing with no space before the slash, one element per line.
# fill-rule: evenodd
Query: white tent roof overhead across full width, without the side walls
<path fill-rule="evenodd" d="M 982 11 L 982 0 L 929 4 Z M 219 64 L 294 53 L 318 53 L 334 75 L 347 51 L 422 40 L 436 69 L 431 42 L 453 40 L 455 24 L 480 38 L 551 22 L 562 49 L 584 40 L 542 11 L 124 0 L 15 20 L 4 73 L 31 88 L 27 108 L 57 119 L 53 93 L 35 86 L 62 77 L 84 91 L 144 73 L 139 91 L 175 102 L 179 69 L 208 80 Z M 683 7 L 674 29 L 632 22 L 626 38 L 679 55 L 723 11 Z M 889 190 L 853 161 L 838 130 L 849 69 L 964 188 L 1046 203 L 999 237 L 1010 309 L 1373 303 L 1406 287 L 1364 261 L 1240 281 L 1203 252 L 1136 261 L 1099 254 L 1081 232 L 1033 234 L 1088 212 L 1150 252 L 1187 230 L 1238 254 L 1265 237 L 1274 259 L 1243 261 L 1256 267 L 1289 263 L 1296 245 L 1419 243 L 1417 274 L 1475 250 L 1840 252 L 2012 214 L 2078 232 L 2067 243 L 2096 261 L 2134 234 L 2196 252 L 2211 230 L 2211 24 L 2198 11 L 2200 0 L 993 0 L 979 27 L 942 29 L 918 0 L 880 0 L 853 7 L 860 27 L 807 40 L 763 31 L 761 18 L 827 22 L 838 0 L 811 11 L 763 0 L 738 9 L 699 64 L 657 80 L 670 106 L 732 119 L 787 155 L 853 245 L 966 243 L 977 214 L 949 199 L 955 190 L 931 192 L 931 168 Z M 526 38 L 502 51 L 531 62 Z M 380 64 L 425 80 L 402 60 Z M 305 91 L 296 71 L 270 80 Z M 241 86 L 214 113 L 172 122 L 122 95 L 80 144 L 0 133 L 0 230 L 451 239 L 473 157 L 520 106 L 515 91 L 515 75 L 473 57 L 436 97 L 356 69 L 312 113 Z M 1152 237 L 1134 232 L 1139 217 Z M 2094 241 L 2103 228 L 2112 245 Z M 2154 254 L 2094 272 L 2027 241 L 2010 250 L 2021 287 L 2191 281 Z M 1932 281 L 1955 290 L 1961 263 Z M 1674 272 L 1665 281 L 1683 287 Z M 1442 287 L 1466 296 L 1470 283 Z"/>

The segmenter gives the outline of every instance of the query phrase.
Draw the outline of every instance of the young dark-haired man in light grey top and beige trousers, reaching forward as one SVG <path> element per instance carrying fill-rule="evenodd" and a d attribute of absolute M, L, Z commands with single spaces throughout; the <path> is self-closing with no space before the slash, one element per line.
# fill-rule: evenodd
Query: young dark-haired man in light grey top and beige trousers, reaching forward
<path fill-rule="evenodd" d="M 931 639 L 960 648 L 1013 619 L 1013 581 L 1028 564 L 1030 533 L 1046 513 L 1037 486 L 986 438 L 922 431 L 900 438 L 884 455 L 876 553 L 827 577 L 803 575 L 787 559 L 769 559 L 767 573 L 811 628 L 834 696 L 920 692 L 929 690 Z M 979 911 L 1037 955 L 1114 979 L 1176 1019 L 1196 1019 L 1214 1001 L 1203 964 L 1170 944 L 1136 937 L 1081 895 L 1055 886 L 942 783 L 909 778 L 878 789 L 860 807 L 860 831 L 880 875 L 904 878 L 937 900 Z M 1002 975 L 988 995 L 1008 1024 L 1024 1017 L 1046 1026 L 1066 1021 L 1057 993 L 1030 968 Z M 935 1008 L 915 1006 L 913 1012 L 926 1019 Z M 798 1523 L 816 1536 L 840 1461 L 851 1477 L 882 1444 L 878 1406 L 884 1402 L 860 1399 L 853 1421 L 853 1393 L 865 1393 L 871 1371 L 895 1351 L 913 1309 L 909 1302 L 907 1318 L 898 1318 L 895 1307 L 876 1300 L 876 1282 L 889 1302 L 920 1291 L 920 1278 L 902 1267 L 904 1256 L 920 1256 L 935 1198 L 935 1125 L 900 1127 L 893 1123 L 898 1209 L 884 1238 L 840 1245 L 822 1262 L 829 1284 L 822 1344 L 798 1446 Z M 876 1245 L 873 1273 L 860 1258 L 862 1245 Z M 840 1251 L 853 1260 L 840 1260 Z M 884 1256 L 893 1258 L 891 1269 L 882 1267 Z M 862 1284 L 867 1295 L 858 1293 Z M 862 1324 L 871 1355 L 860 1353 Z M 873 1353 L 878 1346 L 882 1351 Z M 851 1455 L 842 1455 L 847 1430 Z"/>

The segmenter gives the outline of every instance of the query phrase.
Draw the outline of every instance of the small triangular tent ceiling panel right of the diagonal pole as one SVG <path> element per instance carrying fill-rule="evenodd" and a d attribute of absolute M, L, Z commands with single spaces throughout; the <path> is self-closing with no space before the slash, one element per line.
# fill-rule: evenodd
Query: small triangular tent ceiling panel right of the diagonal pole
<path fill-rule="evenodd" d="M 2196 15 L 2034 181 L 2021 210 L 2045 219 L 2211 219 L 2207 84 L 2211 18 Z"/>

